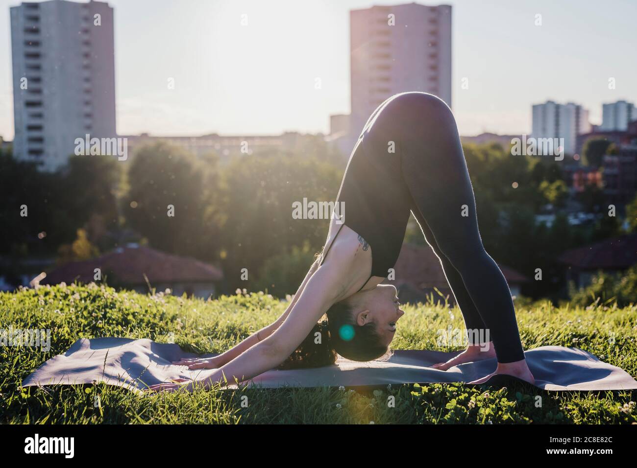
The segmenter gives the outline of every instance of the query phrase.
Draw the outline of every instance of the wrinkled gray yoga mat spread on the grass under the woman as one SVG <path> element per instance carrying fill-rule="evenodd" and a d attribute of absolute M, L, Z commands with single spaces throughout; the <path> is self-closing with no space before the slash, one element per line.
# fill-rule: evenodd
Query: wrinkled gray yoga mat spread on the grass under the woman
<path fill-rule="evenodd" d="M 354 362 L 339 359 L 336 365 L 293 371 L 271 370 L 247 385 L 281 386 L 375 386 L 401 383 L 469 382 L 496 369 L 488 359 L 438 371 L 428 367 L 459 353 L 442 351 L 395 351 L 387 361 Z M 577 348 L 540 346 L 525 351 L 536 386 L 543 390 L 630 390 L 637 381 L 626 371 L 607 364 Z M 104 381 L 138 391 L 168 378 L 203 379 L 214 369 L 190 371 L 173 361 L 196 357 L 177 344 L 150 339 L 78 339 L 62 355 L 50 358 L 28 376 L 23 386 L 73 385 Z M 211 356 L 211 355 L 206 355 Z"/>

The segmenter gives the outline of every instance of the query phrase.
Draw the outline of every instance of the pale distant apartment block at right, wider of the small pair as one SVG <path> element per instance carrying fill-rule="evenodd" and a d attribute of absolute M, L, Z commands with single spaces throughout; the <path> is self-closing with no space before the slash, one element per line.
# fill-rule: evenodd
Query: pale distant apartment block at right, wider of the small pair
<path fill-rule="evenodd" d="M 589 111 L 579 104 L 547 101 L 533 105 L 533 138 L 564 138 L 564 153 L 575 153 L 577 136 L 590 130 Z"/>

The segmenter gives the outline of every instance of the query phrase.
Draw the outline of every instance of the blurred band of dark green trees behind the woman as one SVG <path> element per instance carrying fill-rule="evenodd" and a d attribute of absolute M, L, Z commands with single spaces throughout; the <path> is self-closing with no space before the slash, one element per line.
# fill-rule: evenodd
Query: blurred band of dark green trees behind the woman
<path fill-rule="evenodd" d="M 622 232 L 623 220 L 604 215 L 601 189 L 568 190 L 561 162 L 512 156 L 497 144 L 464 145 L 464 152 L 485 248 L 531 280 L 536 268 L 543 271 L 543 281 L 529 281 L 524 294 L 563 293 L 559 254 Z M 304 198 L 334 201 L 345 164 L 318 138 L 296 153 L 242 155 L 225 163 L 214 153 L 197 158 L 154 143 L 125 162 L 72 156 L 54 173 L 0 153 L 0 255 L 6 274 L 17 276 L 25 259 L 66 262 L 147 243 L 221 266 L 224 292 L 294 294 L 322 248 L 329 220 L 294 219 L 292 206 Z M 573 201 L 598 213 L 598 220 L 569 224 L 560 213 Z M 551 227 L 536 218 L 547 210 L 557 213 Z M 425 243 L 414 220 L 406 241 Z"/>

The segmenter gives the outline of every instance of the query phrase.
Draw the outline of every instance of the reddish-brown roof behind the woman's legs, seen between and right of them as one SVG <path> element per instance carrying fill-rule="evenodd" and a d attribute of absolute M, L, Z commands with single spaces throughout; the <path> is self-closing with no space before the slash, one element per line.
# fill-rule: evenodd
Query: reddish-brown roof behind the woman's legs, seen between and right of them
<path fill-rule="evenodd" d="M 499 266 L 509 284 L 519 284 L 527 278 L 512 268 Z M 394 267 L 396 285 L 411 285 L 417 289 L 448 288 L 440 260 L 429 246 L 404 243 Z"/>

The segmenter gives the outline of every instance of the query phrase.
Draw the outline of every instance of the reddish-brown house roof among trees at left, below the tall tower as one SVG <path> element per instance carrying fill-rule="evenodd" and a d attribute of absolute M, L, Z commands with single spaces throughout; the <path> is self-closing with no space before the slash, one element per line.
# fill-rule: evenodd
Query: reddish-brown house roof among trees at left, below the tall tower
<path fill-rule="evenodd" d="M 159 252 L 145 246 L 120 247 L 96 259 L 69 262 L 55 268 L 41 281 L 57 284 L 64 281 L 90 283 L 94 280 L 94 269 L 99 268 L 102 278 L 106 276 L 121 285 L 157 283 L 192 283 L 222 280 L 224 274 L 210 264 L 189 257 Z"/>

